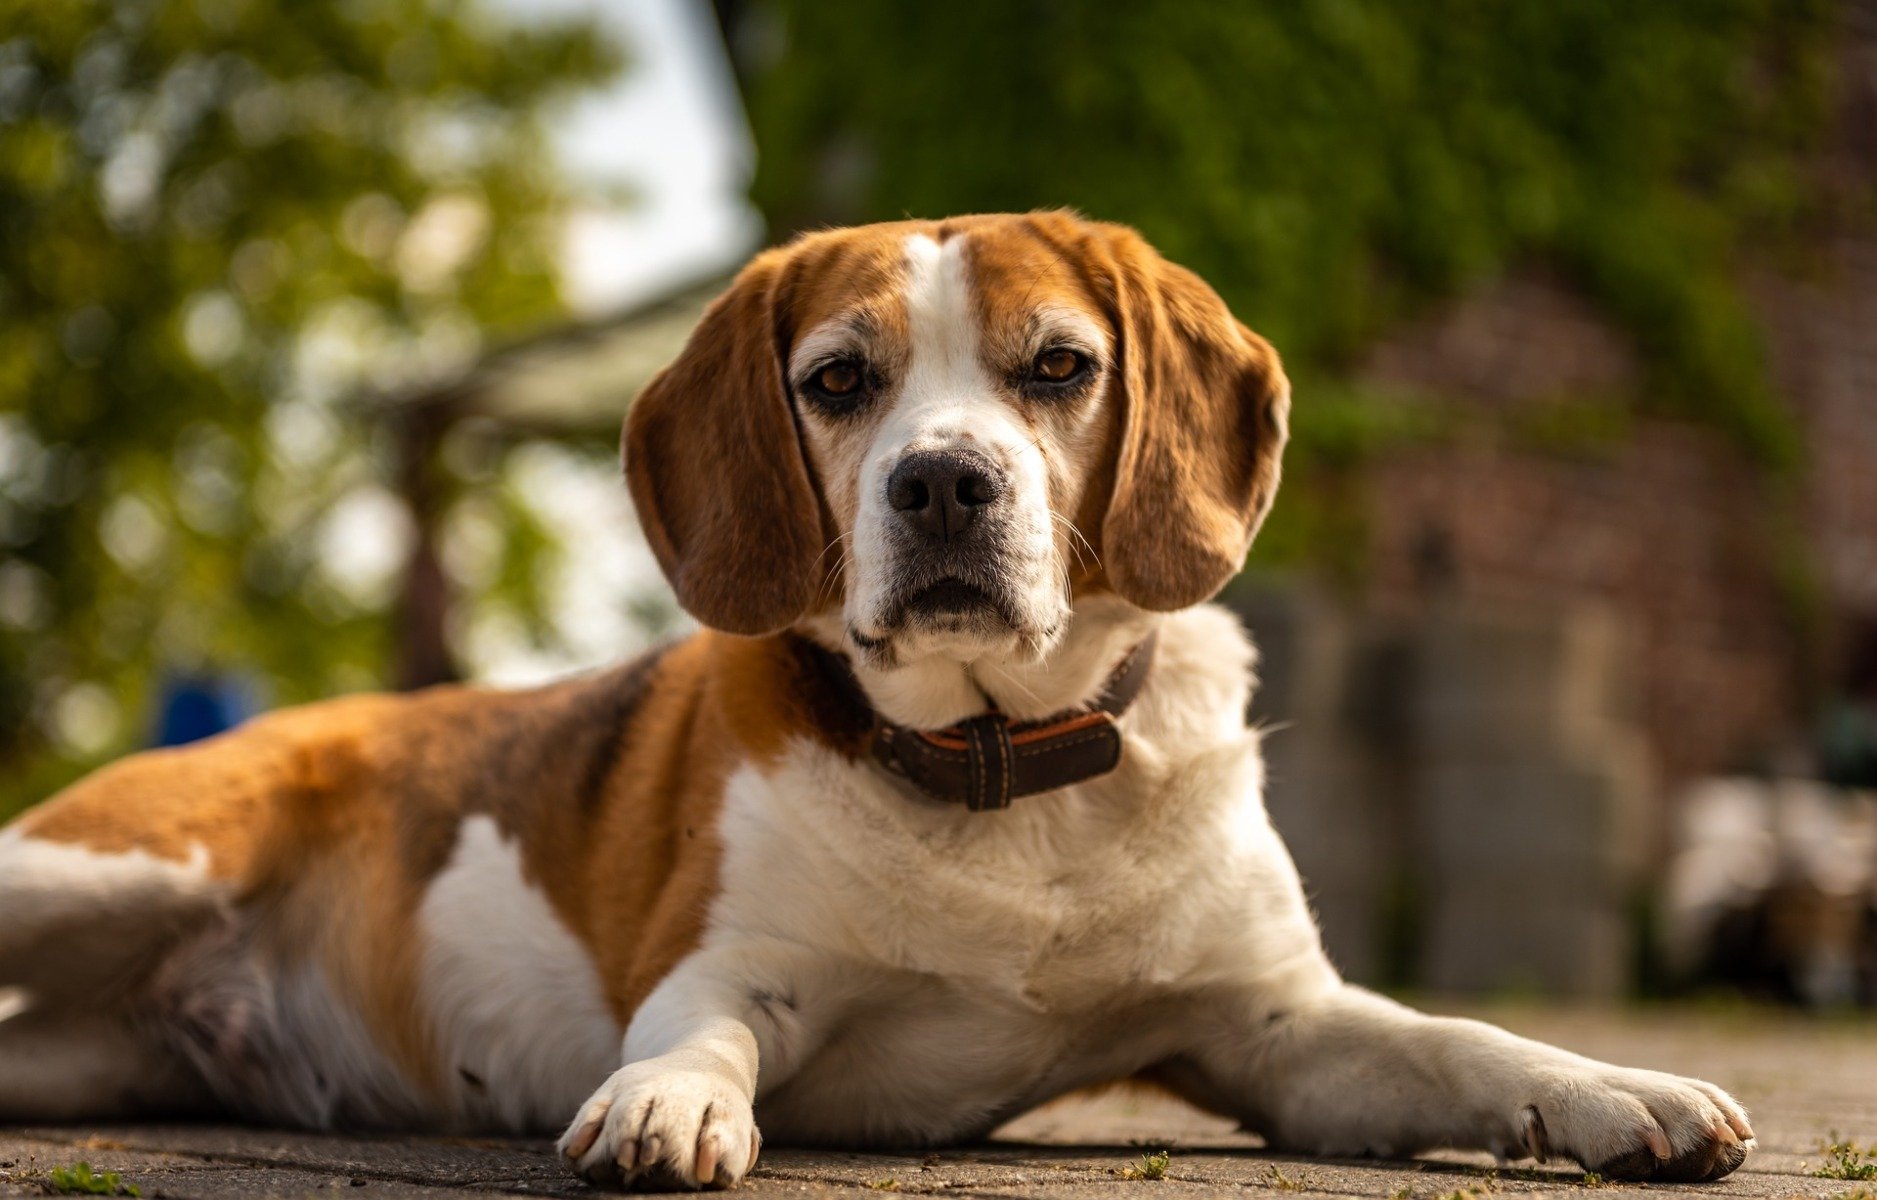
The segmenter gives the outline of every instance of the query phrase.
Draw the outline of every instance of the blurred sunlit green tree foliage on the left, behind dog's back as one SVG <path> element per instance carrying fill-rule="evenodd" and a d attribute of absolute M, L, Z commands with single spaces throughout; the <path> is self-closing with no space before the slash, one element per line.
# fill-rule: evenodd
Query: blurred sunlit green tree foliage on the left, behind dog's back
<path fill-rule="evenodd" d="M 383 682 L 407 518 L 343 400 L 559 312 L 539 118 L 616 69 L 460 0 L 0 6 L 0 815 L 160 670 Z"/>

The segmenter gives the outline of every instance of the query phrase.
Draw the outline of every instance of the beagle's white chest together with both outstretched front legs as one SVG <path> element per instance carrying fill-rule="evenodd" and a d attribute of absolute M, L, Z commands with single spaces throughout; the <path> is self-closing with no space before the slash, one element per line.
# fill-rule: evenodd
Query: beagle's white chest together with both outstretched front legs
<path fill-rule="evenodd" d="M 1106 633 L 1072 629 L 1062 654 Z M 644 1121 L 608 1114 L 668 1099 L 679 1125 L 700 1104 L 725 1121 L 734 1100 L 732 1131 L 753 1117 L 783 1140 L 946 1142 L 1147 1067 L 1323 1153 L 1594 1164 L 1746 1129 L 1708 1084 L 1344 986 L 1263 809 L 1252 657 L 1222 610 L 1164 618 L 1121 770 L 999 813 L 922 800 L 811 744 L 740 772 L 704 943 L 634 1016 L 627 1067 L 563 1149 L 595 1179 L 696 1183 L 689 1149 L 648 1155 Z"/>

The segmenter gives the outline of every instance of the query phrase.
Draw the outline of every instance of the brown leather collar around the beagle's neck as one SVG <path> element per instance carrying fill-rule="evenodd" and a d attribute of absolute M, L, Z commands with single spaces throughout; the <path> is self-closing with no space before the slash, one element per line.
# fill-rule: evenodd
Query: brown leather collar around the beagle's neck
<path fill-rule="evenodd" d="M 963 804 L 974 813 L 1010 808 L 1017 796 L 1096 779 L 1121 766 L 1115 717 L 1141 693 L 1154 661 L 1154 635 L 1147 635 L 1087 708 L 1042 721 L 1012 721 L 991 710 L 946 729 L 922 731 L 882 717 L 845 657 L 809 646 L 848 700 L 873 721 L 867 740 L 873 761 L 933 800 Z"/>

